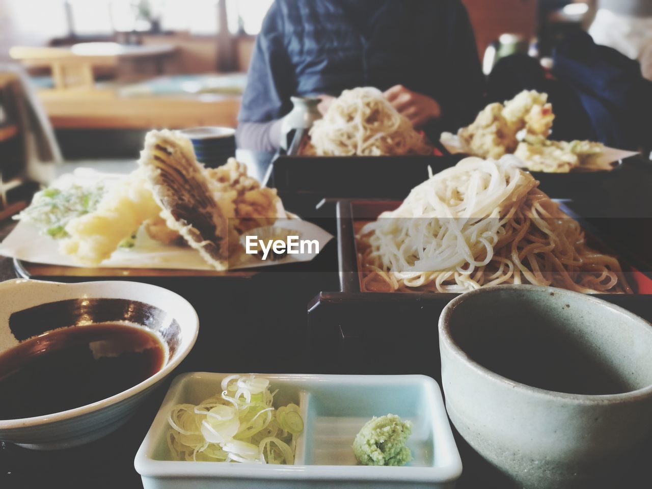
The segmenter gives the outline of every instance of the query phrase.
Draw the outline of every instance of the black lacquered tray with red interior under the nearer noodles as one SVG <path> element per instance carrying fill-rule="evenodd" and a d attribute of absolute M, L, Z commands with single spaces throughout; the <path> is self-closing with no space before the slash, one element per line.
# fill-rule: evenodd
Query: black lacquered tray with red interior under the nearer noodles
<path fill-rule="evenodd" d="M 354 222 L 370 220 L 399 202 L 340 200 L 337 203 L 340 288 L 321 291 L 308 304 L 306 367 L 311 371 L 355 374 L 441 376 L 437 321 L 456 293 L 363 292 L 357 271 Z M 576 216 L 574 216 L 576 217 Z M 580 224 L 585 225 L 582 220 Z M 586 229 L 591 234 L 591 229 Z M 597 241 L 602 241 L 599 235 Z M 602 244 L 602 243 L 600 243 Z M 623 254 L 609 243 L 619 258 Z M 601 246 L 602 247 L 602 246 Z M 626 257 L 623 262 L 627 263 Z M 623 263 L 623 264 L 624 264 Z M 630 262 L 631 263 L 631 262 Z M 652 321 L 649 269 L 632 273 L 648 293 L 597 294 Z M 630 276 L 628 276 L 628 279 Z M 391 361 L 378 361 L 391 359 Z"/>

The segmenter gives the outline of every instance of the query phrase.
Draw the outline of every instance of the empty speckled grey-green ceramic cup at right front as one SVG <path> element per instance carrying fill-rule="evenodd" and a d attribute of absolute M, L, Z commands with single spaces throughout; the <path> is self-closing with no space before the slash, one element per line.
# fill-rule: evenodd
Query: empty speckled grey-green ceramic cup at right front
<path fill-rule="evenodd" d="M 477 289 L 441 313 L 439 348 L 451 421 L 515 486 L 619 487 L 649 443 L 652 326 L 623 308 L 563 289 Z"/>

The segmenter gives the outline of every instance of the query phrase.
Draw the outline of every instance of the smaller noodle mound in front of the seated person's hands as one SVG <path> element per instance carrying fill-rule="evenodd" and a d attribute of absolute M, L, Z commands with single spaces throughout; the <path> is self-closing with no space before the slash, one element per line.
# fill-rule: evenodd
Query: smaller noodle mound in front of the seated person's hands
<path fill-rule="evenodd" d="M 318 156 L 432 154 L 421 134 L 371 87 L 342 92 L 310 129 L 308 153 Z"/>

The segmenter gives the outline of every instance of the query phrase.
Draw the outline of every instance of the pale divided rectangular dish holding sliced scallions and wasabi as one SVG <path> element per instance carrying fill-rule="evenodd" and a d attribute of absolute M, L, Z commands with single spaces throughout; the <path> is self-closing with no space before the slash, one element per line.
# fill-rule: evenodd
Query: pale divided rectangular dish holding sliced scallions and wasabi
<path fill-rule="evenodd" d="M 190 373 L 174 379 L 134 460 L 145 489 L 444 489 L 453 488 L 462 473 L 441 391 L 425 376 L 260 374 L 271 389 L 279 389 L 275 405 L 299 404 L 304 431 L 297 440 L 295 465 L 169 460 L 170 409 L 215 394 L 227 375 Z M 413 461 L 405 467 L 355 465 L 355 434 L 372 416 L 387 413 L 413 422 L 408 441 Z"/>

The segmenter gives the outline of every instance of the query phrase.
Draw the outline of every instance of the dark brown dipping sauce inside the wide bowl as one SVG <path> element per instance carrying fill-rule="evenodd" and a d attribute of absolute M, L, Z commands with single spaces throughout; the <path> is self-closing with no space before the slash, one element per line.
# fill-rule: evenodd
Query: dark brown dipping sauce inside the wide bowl
<path fill-rule="evenodd" d="M 50 331 L 0 355 L 0 419 L 59 413 L 158 372 L 166 350 L 147 329 L 102 323 Z"/>

